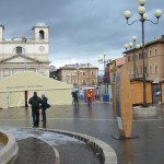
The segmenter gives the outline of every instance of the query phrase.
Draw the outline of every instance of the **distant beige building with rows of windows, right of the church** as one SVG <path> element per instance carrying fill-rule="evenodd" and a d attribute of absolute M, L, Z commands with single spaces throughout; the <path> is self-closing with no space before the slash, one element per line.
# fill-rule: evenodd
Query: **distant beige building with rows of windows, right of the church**
<path fill-rule="evenodd" d="M 85 86 L 96 86 L 98 77 L 98 68 L 84 65 L 66 65 L 55 71 L 54 78 L 72 84 L 74 87 L 81 89 Z"/>

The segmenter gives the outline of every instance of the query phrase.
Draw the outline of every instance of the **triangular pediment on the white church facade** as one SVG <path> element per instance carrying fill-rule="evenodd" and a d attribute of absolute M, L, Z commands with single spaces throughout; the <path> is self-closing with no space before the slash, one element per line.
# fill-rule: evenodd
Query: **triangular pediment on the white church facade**
<path fill-rule="evenodd" d="M 30 57 L 25 57 L 23 55 L 15 55 L 15 56 L 12 56 L 12 57 L 9 57 L 9 58 L 5 58 L 3 60 L 1 60 L 1 63 L 12 63 L 12 62 L 40 62 L 36 59 L 33 59 L 33 58 L 30 58 Z"/>

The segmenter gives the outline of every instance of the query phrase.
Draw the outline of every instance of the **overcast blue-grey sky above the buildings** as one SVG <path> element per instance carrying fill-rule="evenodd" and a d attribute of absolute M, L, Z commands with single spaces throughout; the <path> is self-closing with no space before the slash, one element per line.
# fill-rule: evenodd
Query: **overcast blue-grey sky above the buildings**
<path fill-rule="evenodd" d="M 125 44 L 138 37 L 141 44 L 141 23 L 126 24 L 122 13 L 130 10 L 139 19 L 138 0 L 0 0 L 0 24 L 5 26 L 4 38 L 32 37 L 32 27 L 39 21 L 49 26 L 49 60 L 55 67 L 90 62 L 101 69 L 97 60 L 122 57 Z M 148 0 L 148 19 L 156 21 L 155 9 L 164 13 L 164 0 Z M 42 17 L 42 19 L 40 19 Z M 145 23 L 145 43 L 164 35 L 164 14 L 157 25 Z"/>

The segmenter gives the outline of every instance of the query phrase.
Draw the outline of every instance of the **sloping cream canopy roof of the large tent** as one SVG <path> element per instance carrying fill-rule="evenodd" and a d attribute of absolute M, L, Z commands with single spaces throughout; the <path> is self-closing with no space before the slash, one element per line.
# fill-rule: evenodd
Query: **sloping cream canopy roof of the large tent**
<path fill-rule="evenodd" d="M 30 90 L 68 90 L 71 84 L 60 82 L 35 72 L 20 72 L 0 81 L 0 92 Z"/>

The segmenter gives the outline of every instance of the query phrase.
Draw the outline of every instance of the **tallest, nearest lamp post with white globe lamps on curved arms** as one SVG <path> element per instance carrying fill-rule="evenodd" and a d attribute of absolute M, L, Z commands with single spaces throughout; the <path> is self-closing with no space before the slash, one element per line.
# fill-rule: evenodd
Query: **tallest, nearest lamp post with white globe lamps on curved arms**
<path fill-rule="evenodd" d="M 131 12 L 128 11 L 128 10 L 125 11 L 124 16 L 127 19 L 127 24 L 128 25 L 132 25 L 133 23 L 136 23 L 138 21 L 141 22 L 141 28 L 142 28 L 142 69 L 143 69 L 143 75 L 142 75 L 143 77 L 143 107 L 147 107 L 148 104 L 147 104 L 147 97 L 145 97 L 147 89 L 145 89 L 144 22 L 149 21 L 153 24 L 157 24 L 159 19 L 162 15 L 162 11 L 156 9 L 155 12 L 154 12 L 154 15 L 157 19 L 157 22 L 153 22 L 151 20 L 148 20 L 147 14 L 145 14 L 145 8 L 144 8 L 144 4 L 145 4 L 147 0 L 138 0 L 138 1 L 139 1 L 139 4 L 140 4 L 140 7 L 138 8 L 138 13 L 140 14 L 140 20 L 136 20 L 136 21 L 129 23 L 128 21 L 131 16 Z"/>

